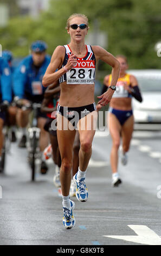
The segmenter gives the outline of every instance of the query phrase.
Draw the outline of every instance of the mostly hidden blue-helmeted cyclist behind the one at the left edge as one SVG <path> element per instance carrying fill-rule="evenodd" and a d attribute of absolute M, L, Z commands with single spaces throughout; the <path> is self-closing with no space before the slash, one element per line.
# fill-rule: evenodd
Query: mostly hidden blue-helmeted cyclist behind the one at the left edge
<path fill-rule="evenodd" d="M 10 66 L 11 75 L 13 76 L 14 66 L 12 66 L 12 59 L 13 59 L 12 52 L 9 50 L 4 50 L 2 52 L 2 57 L 5 60 L 7 60 L 9 66 Z M 12 82 L 12 86 L 13 86 L 13 82 Z M 13 88 L 12 88 L 12 100 L 14 100 Z M 12 142 L 16 141 L 16 111 L 17 111 L 17 108 L 14 105 L 9 106 L 8 112 L 9 112 L 9 124 L 11 125 L 11 136 L 12 136 L 11 141 Z"/>

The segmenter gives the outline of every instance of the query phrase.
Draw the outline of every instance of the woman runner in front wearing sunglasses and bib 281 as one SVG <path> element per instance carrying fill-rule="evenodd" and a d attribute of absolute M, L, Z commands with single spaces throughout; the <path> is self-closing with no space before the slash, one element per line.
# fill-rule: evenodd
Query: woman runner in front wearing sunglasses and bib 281
<path fill-rule="evenodd" d="M 57 139 L 62 159 L 60 180 L 62 189 L 63 225 L 73 228 L 74 202 L 69 198 L 71 168 L 73 164 L 73 143 L 76 129 L 80 134 L 79 170 L 73 179 L 76 184 L 76 198 L 86 202 L 88 191 L 85 184 L 86 170 L 92 154 L 92 141 L 96 129 L 97 112 L 94 102 L 95 64 L 101 59 L 112 66 L 111 88 L 99 96 L 99 104 L 110 102 L 117 83 L 120 64 L 112 54 L 100 46 L 85 45 L 88 19 L 82 14 L 73 14 L 67 20 L 70 42 L 57 46 L 43 77 L 43 86 L 59 79 L 61 95 L 57 107 Z M 55 72 L 56 69 L 59 69 Z M 74 120 L 73 120 L 74 119 Z"/>

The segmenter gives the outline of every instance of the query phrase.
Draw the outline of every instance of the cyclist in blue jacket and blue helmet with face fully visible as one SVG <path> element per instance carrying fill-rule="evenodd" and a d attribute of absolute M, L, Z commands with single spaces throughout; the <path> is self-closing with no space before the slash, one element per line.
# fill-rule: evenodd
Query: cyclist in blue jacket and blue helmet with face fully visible
<path fill-rule="evenodd" d="M 44 96 L 45 88 L 42 86 L 43 75 L 50 63 L 50 57 L 46 54 L 47 44 L 43 41 L 35 41 L 31 44 L 31 55 L 25 57 L 14 72 L 14 93 L 18 99 L 22 99 L 25 104 L 28 101 L 41 103 Z M 19 147 L 26 147 L 26 126 L 28 124 L 29 110 L 17 111 L 17 125 L 21 127 L 22 138 Z M 48 133 L 43 129 L 46 123 L 46 114 L 39 111 L 37 115 L 38 127 L 40 133 L 40 150 L 48 145 Z M 47 164 L 42 160 L 41 173 L 47 172 Z"/>

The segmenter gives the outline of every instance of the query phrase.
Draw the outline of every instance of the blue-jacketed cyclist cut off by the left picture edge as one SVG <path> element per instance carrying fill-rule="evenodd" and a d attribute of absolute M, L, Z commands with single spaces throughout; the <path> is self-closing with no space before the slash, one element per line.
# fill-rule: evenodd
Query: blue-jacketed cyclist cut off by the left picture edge
<path fill-rule="evenodd" d="M 5 121 L 5 110 L 8 108 L 9 103 L 12 100 L 12 89 L 11 89 L 11 71 L 7 61 L 4 58 L 0 58 L 0 162 L 3 147 L 3 125 Z M 2 172 L 2 169 L 0 169 Z"/>

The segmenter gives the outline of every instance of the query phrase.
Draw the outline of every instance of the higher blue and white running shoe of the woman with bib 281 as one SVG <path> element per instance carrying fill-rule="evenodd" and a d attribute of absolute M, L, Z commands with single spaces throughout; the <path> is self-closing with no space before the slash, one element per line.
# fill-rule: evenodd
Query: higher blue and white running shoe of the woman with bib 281
<path fill-rule="evenodd" d="M 80 202 L 86 202 L 87 198 L 88 198 L 88 190 L 87 190 L 87 187 L 86 187 L 85 178 L 81 178 L 80 180 L 77 180 L 76 179 L 77 174 L 78 173 L 76 173 L 73 176 L 73 180 L 74 180 L 75 185 L 76 185 L 76 193 L 75 193 L 75 195 L 76 195 L 76 198 Z"/>

